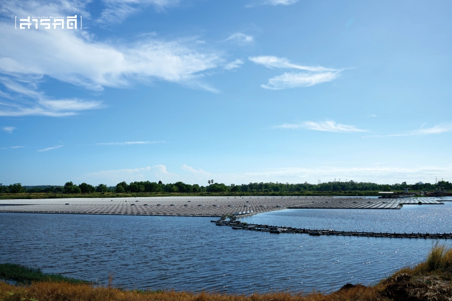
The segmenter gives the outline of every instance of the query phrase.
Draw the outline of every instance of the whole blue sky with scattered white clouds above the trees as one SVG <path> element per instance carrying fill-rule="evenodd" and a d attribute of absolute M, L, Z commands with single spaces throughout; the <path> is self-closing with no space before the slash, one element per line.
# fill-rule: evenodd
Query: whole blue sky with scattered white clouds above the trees
<path fill-rule="evenodd" d="M 0 183 L 451 181 L 451 9 L 2 1 Z"/>

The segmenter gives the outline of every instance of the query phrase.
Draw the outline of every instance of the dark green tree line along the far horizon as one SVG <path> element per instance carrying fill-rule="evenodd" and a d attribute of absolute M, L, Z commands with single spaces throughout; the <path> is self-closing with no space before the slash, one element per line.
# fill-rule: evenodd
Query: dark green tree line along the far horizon
<path fill-rule="evenodd" d="M 185 184 L 183 182 L 163 184 L 162 181 L 149 182 L 126 182 L 118 183 L 116 186 L 108 187 L 104 184 L 92 186 L 86 183 L 75 185 L 72 182 L 67 182 L 64 186 L 46 186 L 46 187 L 23 187 L 21 183 L 5 186 L 0 184 L 0 193 L 65 193 L 65 194 L 79 194 L 79 193 L 137 193 L 137 192 L 165 192 L 165 193 L 199 193 L 199 192 L 245 192 L 245 193 L 270 193 L 270 192 L 347 192 L 347 191 L 400 191 L 404 188 L 410 188 L 413 191 L 433 191 L 438 188 L 450 190 L 452 183 L 447 181 L 440 181 L 436 184 L 416 183 L 393 185 L 382 185 L 370 182 L 327 182 L 320 184 L 289 184 L 289 183 L 250 183 L 250 184 L 231 184 L 225 185 L 223 183 L 212 183 L 208 186 L 199 186 L 198 184 Z"/>

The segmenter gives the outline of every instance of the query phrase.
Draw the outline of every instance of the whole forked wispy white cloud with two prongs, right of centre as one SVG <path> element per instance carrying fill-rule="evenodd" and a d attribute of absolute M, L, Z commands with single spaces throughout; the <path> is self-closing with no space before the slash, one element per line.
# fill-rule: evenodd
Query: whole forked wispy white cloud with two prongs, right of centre
<path fill-rule="evenodd" d="M 275 56 L 249 57 L 251 62 L 264 65 L 267 68 L 290 68 L 304 70 L 305 72 L 285 72 L 284 74 L 272 77 L 268 84 L 261 87 L 269 90 L 281 90 L 295 87 L 308 87 L 322 82 L 332 81 L 339 76 L 343 70 L 331 69 L 321 66 L 302 66 L 292 64 L 287 58 Z"/>

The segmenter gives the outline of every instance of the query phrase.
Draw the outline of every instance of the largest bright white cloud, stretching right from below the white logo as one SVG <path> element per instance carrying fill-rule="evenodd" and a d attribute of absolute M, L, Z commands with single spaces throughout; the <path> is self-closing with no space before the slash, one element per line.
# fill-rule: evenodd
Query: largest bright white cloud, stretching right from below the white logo
<path fill-rule="evenodd" d="M 35 74 L 92 90 L 126 87 L 131 80 L 160 79 L 183 83 L 215 68 L 215 53 L 200 53 L 177 41 L 142 40 L 117 46 L 89 41 L 82 31 L 14 31 L 0 23 L 0 36 L 10 41 L 0 49 L 0 71 Z M 28 45 L 34 45 L 33 48 Z"/>

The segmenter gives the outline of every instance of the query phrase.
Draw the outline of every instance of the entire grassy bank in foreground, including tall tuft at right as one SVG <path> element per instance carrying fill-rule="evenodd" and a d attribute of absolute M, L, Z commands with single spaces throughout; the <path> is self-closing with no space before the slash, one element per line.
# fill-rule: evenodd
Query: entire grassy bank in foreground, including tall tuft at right
<path fill-rule="evenodd" d="M 8 275 L 2 275 L 8 279 Z M 71 279 L 71 278 L 67 278 Z M 432 247 L 426 260 L 403 268 L 374 286 L 346 284 L 331 293 L 268 292 L 222 294 L 216 292 L 177 292 L 122 290 L 93 286 L 67 279 L 45 279 L 29 284 L 0 281 L 0 300 L 4 301 L 346 301 L 346 300 L 451 300 L 452 249 Z M 111 279 L 109 281 L 111 283 Z"/>

